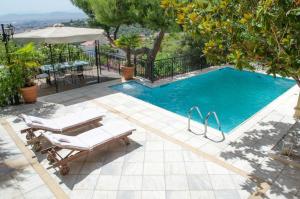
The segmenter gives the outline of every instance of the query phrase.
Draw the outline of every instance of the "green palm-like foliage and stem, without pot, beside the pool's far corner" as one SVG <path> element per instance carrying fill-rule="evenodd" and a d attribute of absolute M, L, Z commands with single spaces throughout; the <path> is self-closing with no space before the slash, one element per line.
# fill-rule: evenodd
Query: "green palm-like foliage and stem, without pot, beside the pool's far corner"
<path fill-rule="evenodd" d="M 122 35 L 115 41 L 116 45 L 126 52 L 127 67 L 132 67 L 131 54 L 132 50 L 137 48 L 141 43 L 141 37 L 137 34 Z"/>

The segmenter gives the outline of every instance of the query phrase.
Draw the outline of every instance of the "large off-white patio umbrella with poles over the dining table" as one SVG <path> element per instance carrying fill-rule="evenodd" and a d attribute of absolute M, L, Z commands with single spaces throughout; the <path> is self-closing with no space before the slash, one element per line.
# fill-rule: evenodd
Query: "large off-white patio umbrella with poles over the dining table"
<path fill-rule="evenodd" d="M 31 30 L 14 35 L 14 40 L 20 43 L 46 43 L 50 48 L 51 64 L 53 66 L 53 55 L 51 44 L 69 44 L 79 43 L 90 40 L 103 40 L 104 30 L 102 29 L 91 29 L 91 28 L 76 28 L 76 27 L 64 27 L 60 24 L 54 25 L 53 27 L 47 27 L 43 29 Z M 97 43 L 97 42 L 95 42 Z M 96 53 L 97 56 L 97 53 Z M 98 67 L 98 66 L 97 66 Z M 54 80 L 56 85 L 56 91 L 58 91 L 58 85 L 56 83 L 56 75 L 54 72 Z M 98 75 L 99 82 L 99 75 Z"/>

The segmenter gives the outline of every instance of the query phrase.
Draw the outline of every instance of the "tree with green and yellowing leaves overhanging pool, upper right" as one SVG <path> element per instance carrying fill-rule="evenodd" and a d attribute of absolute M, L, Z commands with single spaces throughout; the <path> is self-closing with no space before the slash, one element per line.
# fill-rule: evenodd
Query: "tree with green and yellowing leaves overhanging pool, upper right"
<path fill-rule="evenodd" d="M 300 0 L 162 0 L 161 6 L 205 41 L 210 62 L 260 65 L 300 86 Z"/>

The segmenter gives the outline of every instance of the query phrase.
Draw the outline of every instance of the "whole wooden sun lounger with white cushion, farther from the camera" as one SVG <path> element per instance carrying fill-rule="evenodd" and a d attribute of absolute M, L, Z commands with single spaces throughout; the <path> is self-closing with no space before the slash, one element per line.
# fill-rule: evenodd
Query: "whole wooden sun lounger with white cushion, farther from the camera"
<path fill-rule="evenodd" d="M 74 131 L 80 127 L 98 124 L 104 117 L 104 112 L 87 109 L 54 119 L 44 119 L 26 114 L 21 114 L 19 117 L 28 127 L 21 130 L 21 133 L 26 133 L 27 144 L 33 145 L 34 150 L 39 151 L 41 150 L 40 136 L 36 135 L 36 131 L 44 130 L 53 133 Z"/>

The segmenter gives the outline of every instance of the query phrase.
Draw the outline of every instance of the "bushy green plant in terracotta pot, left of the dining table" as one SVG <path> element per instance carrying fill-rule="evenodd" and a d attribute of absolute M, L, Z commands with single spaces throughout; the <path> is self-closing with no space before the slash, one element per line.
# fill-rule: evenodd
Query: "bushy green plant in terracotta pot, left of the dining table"
<path fill-rule="evenodd" d="M 13 54 L 10 64 L 14 71 L 19 72 L 21 82 L 20 92 L 25 103 L 34 103 L 37 100 L 37 85 L 34 78 L 38 73 L 42 54 L 36 50 L 33 43 L 29 43 L 18 49 Z"/>

